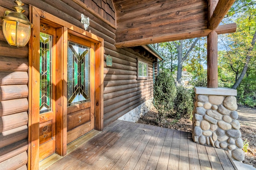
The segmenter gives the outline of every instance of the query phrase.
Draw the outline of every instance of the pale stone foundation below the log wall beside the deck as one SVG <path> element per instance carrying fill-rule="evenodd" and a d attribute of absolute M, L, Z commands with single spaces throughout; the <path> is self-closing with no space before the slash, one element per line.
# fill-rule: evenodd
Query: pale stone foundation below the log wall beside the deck
<path fill-rule="evenodd" d="M 149 99 L 140 106 L 132 109 L 131 111 L 120 117 L 118 120 L 136 122 L 138 121 L 138 119 L 140 119 L 140 117 L 142 117 L 144 114 L 150 111 L 152 106 L 152 99 Z"/>

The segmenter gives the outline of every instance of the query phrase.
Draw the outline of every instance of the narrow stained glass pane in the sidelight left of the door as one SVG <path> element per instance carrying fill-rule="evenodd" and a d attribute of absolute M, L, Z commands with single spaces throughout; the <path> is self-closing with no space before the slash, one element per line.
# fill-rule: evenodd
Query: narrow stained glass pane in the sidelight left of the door
<path fill-rule="evenodd" d="M 52 36 L 40 33 L 40 113 L 52 110 Z"/>

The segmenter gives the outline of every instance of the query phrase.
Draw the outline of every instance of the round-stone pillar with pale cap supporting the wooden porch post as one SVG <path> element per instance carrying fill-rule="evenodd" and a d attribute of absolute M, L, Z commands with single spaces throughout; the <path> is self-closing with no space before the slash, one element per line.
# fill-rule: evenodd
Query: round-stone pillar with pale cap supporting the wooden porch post
<path fill-rule="evenodd" d="M 195 87 L 192 138 L 202 145 L 228 150 L 234 160 L 243 161 L 243 140 L 237 120 L 236 90 Z"/>

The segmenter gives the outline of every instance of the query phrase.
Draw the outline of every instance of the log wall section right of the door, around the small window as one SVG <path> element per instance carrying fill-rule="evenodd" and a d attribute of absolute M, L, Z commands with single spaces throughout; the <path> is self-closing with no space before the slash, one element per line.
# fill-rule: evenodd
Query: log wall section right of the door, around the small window
<path fill-rule="evenodd" d="M 113 65 L 104 66 L 104 126 L 153 97 L 155 60 L 151 55 L 144 57 L 130 48 L 116 49 L 114 45 L 106 42 L 105 54 L 113 57 Z M 146 80 L 136 80 L 137 58 L 148 61 Z"/>

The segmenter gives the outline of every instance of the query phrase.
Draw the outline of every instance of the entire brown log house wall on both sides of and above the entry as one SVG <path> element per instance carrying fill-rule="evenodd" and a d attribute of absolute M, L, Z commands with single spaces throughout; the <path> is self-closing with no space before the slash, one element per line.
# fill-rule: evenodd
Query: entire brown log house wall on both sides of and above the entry
<path fill-rule="evenodd" d="M 144 57 L 132 49 L 116 49 L 113 27 L 115 15 L 111 0 L 102 0 L 106 22 L 99 14 L 88 12 L 76 0 L 22 0 L 28 16 L 28 6 L 36 6 L 73 25 L 84 28 L 81 13 L 90 18 L 87 31 L 104 39 L 104 61 L 112 56 L 112 67 L 104 63 L 104 127 L 152 98 L 154 57 Z M 88 0 L 84 0 L 88 2 Z M 93 1 L 96 3 L 98 1 Z M 97 4 L 97 3 L 96 3 Z M 0 0 L 0 14 L 13 10 L 14 2 Z M 97 8 L 100 4 L 97 4 Z M 92 6 L 96 10 L 96 6 Z M 99 9 L 99 8 L 98 8 Z M 110 11 L 110 9 L 112 11 Z M 98 10 L 100 12 L 100 10 Z M 101 14 L 101 15 L 102 15 Z M 110 25 L 109 23 L 112 23 Z M 8 45 L 0 20 L 0 169 L 26 169 L 28 162 L 28 45 L 17 48 Z M 136 80 L 137 58 L 148 61 L 148 79 Z"/>

